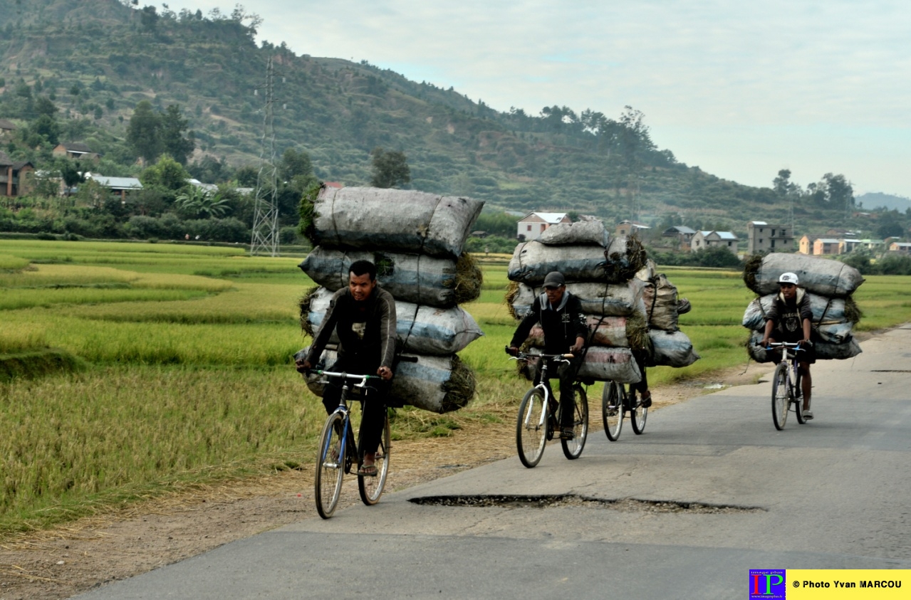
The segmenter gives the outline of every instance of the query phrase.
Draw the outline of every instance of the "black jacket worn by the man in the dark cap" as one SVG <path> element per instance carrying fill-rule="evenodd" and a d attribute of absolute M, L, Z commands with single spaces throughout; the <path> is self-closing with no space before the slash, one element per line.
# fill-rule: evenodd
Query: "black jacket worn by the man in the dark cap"
<path fill-rule="evenodd" d="M 562 354 L 576 343 L 576 338 L 588 341 L 589 327 L 582 314 L 582 303 L 568 291 L 563 292 L 563 299 L 558 307 L 550 306 L 545 294 L 538 296 L 531 304 L 531 309 L 519 322 L 510 346 L 519 347 L 528 337 L 535 323 L 541 324 L 544 330 L 544 353 Z"/>

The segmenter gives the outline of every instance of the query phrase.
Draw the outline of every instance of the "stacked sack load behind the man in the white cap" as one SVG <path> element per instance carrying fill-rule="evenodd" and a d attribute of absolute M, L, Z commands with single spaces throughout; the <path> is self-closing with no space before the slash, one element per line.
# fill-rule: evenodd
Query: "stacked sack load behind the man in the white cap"
<path fill-rule="evenodd" d="M 775 360 L 776 353 L 758 346 L 763 340 L 765 315 L 778 293 L 778 278 L 792 272 L 810 297 L 813 310 L 813 341 L 816 359 L 849 359 L 860 354 L 853 328 L 860 320 L 852 294 L 864 282 L 857 269 L 843 262 L 804 254 L 768 254 L 753 257 L 743 269 L 743 281 L 757 294 L 743 313 L 743 327 L 751 330 L 747 351 L 757 362 Z"/>

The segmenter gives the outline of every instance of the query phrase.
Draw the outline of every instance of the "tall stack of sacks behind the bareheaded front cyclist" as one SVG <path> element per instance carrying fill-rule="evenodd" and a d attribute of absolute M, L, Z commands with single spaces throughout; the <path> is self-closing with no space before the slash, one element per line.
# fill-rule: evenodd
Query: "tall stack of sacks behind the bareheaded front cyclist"
<path fill-rule="evenodd" d="M 319 328 L 333 292 L 348 285 L 348 268 L 365 259 L 395 299 L 398 347 L 416 362 L 400 362 L 389 391 L 391 404 L 433 412 L 462 408 L 475 393 L 475 375 L 456 352 L 483 331 L 458 306 L 475 300 L 481 270 L 463 246 L 484 203 L 472 198 L 381 188 L 325 188 L 302 207 L 303 229 L 314 248 L 300 267 L 319 287 L 301 300 L 301 326 Z M 337 343 L 333 335 L 333 341 Z M 304 349 L 306 351 L 307 349 Z M 335 351 L 322 353 L 319 368 Z M 307 378 L 322 396 L 320 378 Z"/>

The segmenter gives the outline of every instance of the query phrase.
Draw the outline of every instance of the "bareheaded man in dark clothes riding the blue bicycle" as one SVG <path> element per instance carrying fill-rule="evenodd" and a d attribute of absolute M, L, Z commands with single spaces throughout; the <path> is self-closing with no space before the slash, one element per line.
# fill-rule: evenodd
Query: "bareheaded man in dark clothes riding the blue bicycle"
<path fill-rule="evenodd" d="M 339 338 L 338 361 L 328 371 L 376 373 L 383 379 L 363 402 L 361 419 L 363 463 L 358 474 L 374 476 L 376 449 L 385 423 L 384 396 L 393 378 L 395 300 L 376 286 L 376 266 L 369 260 L 355 260 L 349 267 L 348 287 L 333 295 L 310 351 L 294 363 L 298 371 L 309 371 L 319 361 L 333 331 Z M 338 408 L 342 385 L 340 378 L 333 378 L 325 387 L 322 404 L 328 414 Z"/>

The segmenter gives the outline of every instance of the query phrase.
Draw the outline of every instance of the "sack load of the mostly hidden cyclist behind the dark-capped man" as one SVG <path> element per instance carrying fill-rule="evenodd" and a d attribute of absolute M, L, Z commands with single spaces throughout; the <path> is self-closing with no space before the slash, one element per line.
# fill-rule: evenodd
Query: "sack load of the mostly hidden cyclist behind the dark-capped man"
<path fill-rule="evenodd" d="M 690 302 L 685 298 L 678 299 L 677 287 L 664 273 L 656 273 L 655 269 L 655 262 L 649 259 L 646 266 L 636 273 L 636 279 L 645 283 L 642 300 L 649 320 L 652 350 L 649 366 L 690 366 L 700 356 L 678 325 L 680 315 L 690 311 Z"/>

